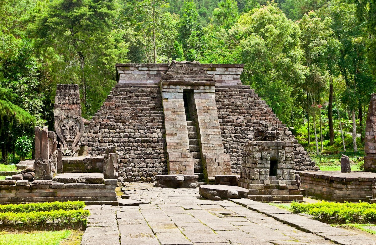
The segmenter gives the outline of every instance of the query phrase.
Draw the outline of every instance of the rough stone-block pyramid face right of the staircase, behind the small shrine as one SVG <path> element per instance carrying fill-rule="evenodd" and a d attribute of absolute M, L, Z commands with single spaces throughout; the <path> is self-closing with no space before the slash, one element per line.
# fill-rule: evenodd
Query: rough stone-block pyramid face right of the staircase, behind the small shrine
<path fill-rule="evenodd" d="M 255 129 L 264 123 L 277 127 L 276 139 L 291 140 L 294 143 L 295 170 L 317 170 L 315 162 L 304 150 L 286 124 L 276 117 L 264 100 L 246 85 L 215 86 L 218 118 L 224 149 L 230 154 L 233 173 L 239 173 L 243 161 L 245 142 L 255 138 Z"/>

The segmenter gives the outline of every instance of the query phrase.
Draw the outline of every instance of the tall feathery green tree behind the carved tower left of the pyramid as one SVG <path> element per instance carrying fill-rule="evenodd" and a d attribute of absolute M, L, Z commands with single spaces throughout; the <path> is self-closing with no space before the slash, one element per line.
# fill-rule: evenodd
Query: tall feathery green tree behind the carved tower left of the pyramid
<path fill-rule="evenodd" d="M 54 84 L 79 83 L 83 113 L 89 115 L 101 104 L 92 106 L 92 102 L 103 100 L 91 93 L 103 91 L 98 83 L 108 87 L 114 75 L 107 68 L 112 70 L 113 59 L 121 62 L 127 52 L 127 45 L 117 37 L 121 32 L 114 30 L 112 23 L 116 7 L 113 0 L 53 0 L 36 15 L 30 29 L 37 39 L 39 61 L 46 64 L 45 72 Z M 90 80 L 93 73 L 100 76 Z"/>

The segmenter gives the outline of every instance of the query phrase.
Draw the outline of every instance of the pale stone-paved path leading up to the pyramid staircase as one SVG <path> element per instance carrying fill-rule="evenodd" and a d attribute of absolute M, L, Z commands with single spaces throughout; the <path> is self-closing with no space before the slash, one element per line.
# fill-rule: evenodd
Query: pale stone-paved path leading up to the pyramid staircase
<path fill-rule="evenodd" d="M 150 183 L 127 189 L 129 198 L 150 204 L 87 206 L 91 215 L 82 245 L 318 245 L 332 240 L 376 245 L 371 236 L 249 199 L 204 200 L 198 188 L 153 188 Z"/>

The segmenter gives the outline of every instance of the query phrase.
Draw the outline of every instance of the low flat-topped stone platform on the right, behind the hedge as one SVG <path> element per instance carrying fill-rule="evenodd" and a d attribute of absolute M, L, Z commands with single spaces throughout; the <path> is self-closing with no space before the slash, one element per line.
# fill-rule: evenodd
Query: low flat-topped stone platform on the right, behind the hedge
<path fill-rule="evenodd" d="M 325 200 L 366 201 L 372 195 L 373 177 L 368 172 L 296 171 L 306 194 Z"/>

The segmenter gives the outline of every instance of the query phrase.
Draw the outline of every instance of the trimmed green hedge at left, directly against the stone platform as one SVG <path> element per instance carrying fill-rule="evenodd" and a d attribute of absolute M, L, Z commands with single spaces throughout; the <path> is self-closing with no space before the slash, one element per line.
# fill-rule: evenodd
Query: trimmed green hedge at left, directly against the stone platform
<path fill-rule="evenodd" d="M 29 212 L 46 212 L 52 210 L 82 210 L 85 207 L 83 201 L 66 201 L 52 203 L 28 203 L 28 204 L 6 204 L 0 205 L 0 213 L 29 213 Z"/>

